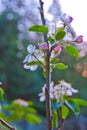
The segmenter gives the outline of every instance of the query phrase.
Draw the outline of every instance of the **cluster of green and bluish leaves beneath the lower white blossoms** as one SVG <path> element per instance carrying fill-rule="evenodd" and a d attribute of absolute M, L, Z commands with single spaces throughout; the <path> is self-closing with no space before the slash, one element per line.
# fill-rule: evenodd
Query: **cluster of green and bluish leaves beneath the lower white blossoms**
<path fill-rule="evenodd" d="M 58 119 L 66 119 L 70 111 L 77 117 L 80 107 L 87 107 L 87 101 L 79 98 L 67 98 L 64 102 L 52 103 L 53 127 L 58 127 Z"/>

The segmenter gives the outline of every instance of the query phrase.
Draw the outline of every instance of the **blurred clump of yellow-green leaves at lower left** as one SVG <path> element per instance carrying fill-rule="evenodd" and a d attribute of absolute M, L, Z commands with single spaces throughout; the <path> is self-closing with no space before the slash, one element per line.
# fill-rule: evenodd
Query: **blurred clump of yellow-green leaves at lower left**
<path fill-rule="evenodd" d="M 16 101 L 11 104 L 3 105 L 0 112 L 0 117 L 6 121 L 15 122 L 26 120 L 30 124 L 41 123 L 40 117 L 37 115 L 37 110 L 31 101 L 27 101 L 28 106 L 23 106 Z"/>

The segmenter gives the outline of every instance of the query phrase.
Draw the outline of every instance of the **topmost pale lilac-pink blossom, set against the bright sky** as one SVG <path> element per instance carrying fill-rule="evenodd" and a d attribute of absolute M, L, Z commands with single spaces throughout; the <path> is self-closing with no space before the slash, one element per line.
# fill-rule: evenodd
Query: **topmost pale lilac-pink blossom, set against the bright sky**
<path fill-rule="evenodd" d="M 60 20 L 64 22 L 64 25 L 68 25 L 73 21 L 73 18 L 67 14 L 62 14 Z"/>

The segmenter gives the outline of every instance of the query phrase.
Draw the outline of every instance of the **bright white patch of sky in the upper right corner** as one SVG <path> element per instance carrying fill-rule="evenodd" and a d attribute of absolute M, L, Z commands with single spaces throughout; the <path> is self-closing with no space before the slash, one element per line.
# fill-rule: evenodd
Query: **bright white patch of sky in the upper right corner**
<path fill-rule="evenodd" d="M 87 41 L 87 2 L 86 0 L 59 0 L 64 13 L 71 15 L 74 20 L 72 26 L 77 35 L 83 35 Z"/>

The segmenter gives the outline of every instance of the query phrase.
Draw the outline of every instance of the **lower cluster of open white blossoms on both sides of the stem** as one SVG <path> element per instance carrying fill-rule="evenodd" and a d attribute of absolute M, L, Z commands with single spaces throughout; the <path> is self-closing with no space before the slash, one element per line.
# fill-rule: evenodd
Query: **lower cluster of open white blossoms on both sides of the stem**
<path fill-rule="evenodd" d="M 43 102 L 46 99 L 45 96 L 46 84 L 42 87 L 42 92 L 39 93 L 40 101 Z M 50 99 L 57 100 L 58 102 L 63 102 L 67 96 L 72 96 L 73 93 L 77 93 L 78 90 L 72 88 L 70 83 L 64 80 L 59 81 L 59 84 L 50 83 Z"/>

